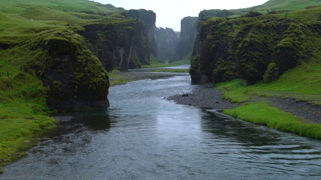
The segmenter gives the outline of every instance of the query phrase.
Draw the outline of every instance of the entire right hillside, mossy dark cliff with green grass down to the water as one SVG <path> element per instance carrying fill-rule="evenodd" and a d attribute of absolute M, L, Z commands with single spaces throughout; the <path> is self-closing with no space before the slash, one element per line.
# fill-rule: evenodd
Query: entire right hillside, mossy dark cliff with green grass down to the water
<path fill-rule="evenodd" d="M 192 80 L 215 82 L 223 98 L 238 103 L 239 107 L 225 110 L 230 115 L 321 138 L 319 123 L 304 117 L 291 120 L 297 119 L 293 111 L 310 107 L 318 109 L 311 114 L 321 116 L 320 3 L 269 0 L 240 9 L 253 11 L 239 17 L 202 19 L 195 43 L 199 47 L 194 47 L 201 51 L 192 53 Z M 274 108 L 278 104 L 271 98 L 306 103 L 289 113 Z"/>

